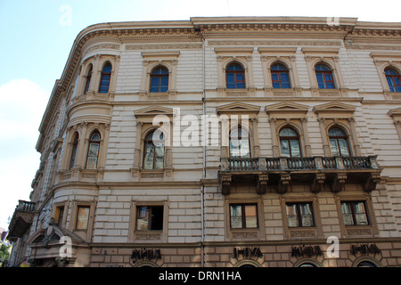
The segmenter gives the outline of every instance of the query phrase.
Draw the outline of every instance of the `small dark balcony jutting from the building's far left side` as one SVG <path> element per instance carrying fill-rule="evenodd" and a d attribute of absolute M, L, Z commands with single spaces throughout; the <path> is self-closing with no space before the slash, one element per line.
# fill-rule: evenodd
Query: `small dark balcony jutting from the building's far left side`
<path fill-rule="evenodd" d="M 8 226 L 8 240 L 16 241 L 29 230 L 33 221 L 34 211 L 34 202 L 19 200 L 19 204 L 12 215 L 11 223 Z"/>

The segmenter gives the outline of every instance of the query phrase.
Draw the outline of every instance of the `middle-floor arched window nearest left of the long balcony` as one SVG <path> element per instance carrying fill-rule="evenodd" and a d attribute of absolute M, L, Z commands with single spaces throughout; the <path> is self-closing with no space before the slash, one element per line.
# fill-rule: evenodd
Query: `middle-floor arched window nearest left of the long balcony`
<path fill-rule="evenodd" d="M 143 142 L 143 169 L 162 169 L 164 167 L 163 133 L 151 132 Z"/>

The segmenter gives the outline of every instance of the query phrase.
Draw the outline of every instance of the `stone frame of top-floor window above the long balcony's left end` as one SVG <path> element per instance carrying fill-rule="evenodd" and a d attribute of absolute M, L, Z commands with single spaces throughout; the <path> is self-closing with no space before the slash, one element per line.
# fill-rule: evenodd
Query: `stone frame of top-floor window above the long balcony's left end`
<path fill-rule="evenodd" d="M 249 97 L 254 96 L 256 87 L 253 80 L 252 53 L 253 47 L 215 47 L 217 54 L 217 94 L 218 96 Z M 225 69 L 233 62 L 241 64 L 245 76 L 244 89 L 227 89 Z"/>

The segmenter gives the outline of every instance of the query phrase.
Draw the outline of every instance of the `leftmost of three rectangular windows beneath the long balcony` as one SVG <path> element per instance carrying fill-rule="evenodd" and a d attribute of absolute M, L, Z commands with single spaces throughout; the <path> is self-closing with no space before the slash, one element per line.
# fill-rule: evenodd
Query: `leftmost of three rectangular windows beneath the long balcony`
<path fill-rule="evenodd" d="M 256 204 L 230 205 L 230 223 L 232 229 L 258 228 L 258 206 Z"/>

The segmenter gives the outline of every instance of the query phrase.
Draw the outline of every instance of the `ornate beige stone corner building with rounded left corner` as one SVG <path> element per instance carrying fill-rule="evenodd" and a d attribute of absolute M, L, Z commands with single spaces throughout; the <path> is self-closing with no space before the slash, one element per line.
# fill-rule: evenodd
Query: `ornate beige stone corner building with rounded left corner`
<path fill-rule="evenodd" d="M 399 266 L 400 72 L 399 23 L 85 28 L 40 125 L 11 263 Z"/>

